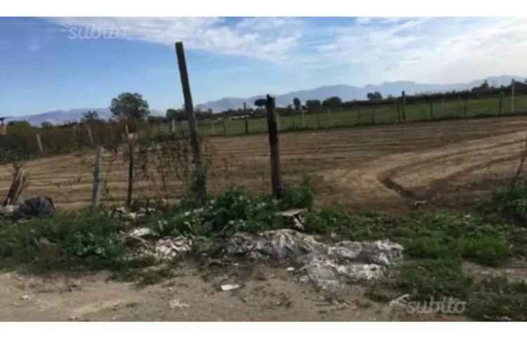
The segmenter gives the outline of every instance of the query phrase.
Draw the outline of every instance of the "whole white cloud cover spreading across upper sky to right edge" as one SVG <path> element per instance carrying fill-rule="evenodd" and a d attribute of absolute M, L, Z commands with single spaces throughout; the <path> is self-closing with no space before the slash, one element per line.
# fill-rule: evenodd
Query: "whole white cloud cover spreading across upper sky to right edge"
<path fill-rule="evenodd" d="M 131 39 L 155 44 L 184 41 L 186 48 L 278 62 L 282 69 L 298 74 L 342 69 L 341 74 L 348 72 L 344 76 L 355 84 L 527 74 L 525 18 L 52 20 L 77 27 L 118 28 Z"/>

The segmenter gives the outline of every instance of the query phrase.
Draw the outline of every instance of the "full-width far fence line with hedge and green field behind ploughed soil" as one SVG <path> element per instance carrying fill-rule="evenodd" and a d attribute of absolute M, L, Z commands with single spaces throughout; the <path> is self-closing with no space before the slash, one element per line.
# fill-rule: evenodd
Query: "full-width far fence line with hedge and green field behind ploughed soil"
<path fill-rule="evenodd" d="M 475 117 L 503 117 L 527 114 L 527 94 L 514 96 L 494 95 L 491 97 L 435 98 L 412 100 L 407 97 L 391 102 L 365 102 L 366 105 L 321 108 L 318 112 L 306 109 L 277 109 L 278 128 L 281 132 L 343 128 L 361 125 L 398 124 L 414 121 L 436 121 L 442 119 L 464 119 Z M 250 114 L 233 115 L 216 119 L 199 119 L 198 131 L 203 136 L 244 135 L 267 133 L 268 126 L 264 112 L 258 109 Z M 93 124 L 69 124 L 65 126 L 34 127 L 29 124 L 4 126 L 0 135 L 0 164 L 23 161 L 42 156 L 65 154 L 95 145 L 115 148 L 124 142 L 125 126 L 131 132 L 138 132 L 140 139 L 167 134 L 171 131 L 188 131 L 186 121 L 160 123 L 148 121 L 98 121 Z M 7 128 L 6 128 L 7 127 Z"/>

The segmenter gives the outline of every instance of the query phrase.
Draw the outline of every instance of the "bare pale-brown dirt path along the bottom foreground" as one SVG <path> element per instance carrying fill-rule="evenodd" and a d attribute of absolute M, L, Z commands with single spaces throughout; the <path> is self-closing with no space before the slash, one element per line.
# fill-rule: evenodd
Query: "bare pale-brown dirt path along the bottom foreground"
<path fill-rule="evenodd" d="M 0 274 L 0 321 L 453 320 L 372 302 L 363 295 L 365 286 L 350 286 L 339 295 L 317 292 L 285 267 L 254 265 L 240 277 L 185 264 L 174 279 L 144 288 L 107 278 L 105 273 L 77 278 Z M 225 280 L 242 287 L 219 291 Z"/>

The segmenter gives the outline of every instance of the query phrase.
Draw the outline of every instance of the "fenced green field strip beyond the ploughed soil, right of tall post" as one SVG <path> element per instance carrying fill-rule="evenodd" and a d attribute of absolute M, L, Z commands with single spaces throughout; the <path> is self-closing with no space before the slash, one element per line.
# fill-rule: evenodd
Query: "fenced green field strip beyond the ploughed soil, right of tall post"
<path fill-rule="evenodd" d="M 404 118 L 402 106 L 397 103 L 372 102 L 367 107 L 320 109 L 319 112 L 293 111 L 278 114 L 280 131 L 301 131 L 303 129 L 339 128 L 372 124 L 398 124 L 415 121 L 436 121 L 443 119 L 464 119 L 476 117 L 500 117 L 527 114 L 527 95 L 512 98 L 497 95 L 492 98 L 458 98 L 455 100 L 427 100 L 406 102 Z M 258 112 L 256 110 L 256 112 Z M 198 121 L 202 135 L 243 135 L 267 133 L 267 123 L 261 114 L 256 117 L 223 117 Z M 247 122 L 246 122 L 247 120 Z M 247 127 L 246 127 L 247 126 Z M 176 124 L 177 131 L 187 128 L 186 122 Z M 164 129 L 169 131 L 170 126 Z"/>

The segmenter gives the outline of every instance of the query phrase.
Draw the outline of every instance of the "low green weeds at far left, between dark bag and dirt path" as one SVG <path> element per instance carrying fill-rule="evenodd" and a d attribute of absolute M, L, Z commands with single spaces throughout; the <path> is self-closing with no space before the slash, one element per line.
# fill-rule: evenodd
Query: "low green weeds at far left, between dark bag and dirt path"
<path fill-rule="evenodd" d="M 0 265 L 102 269 L 118 267 L 123 222 L 104 213 L 63 212 L 0 227 Z"/>

